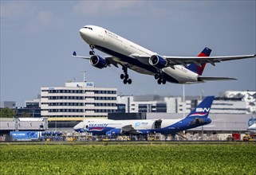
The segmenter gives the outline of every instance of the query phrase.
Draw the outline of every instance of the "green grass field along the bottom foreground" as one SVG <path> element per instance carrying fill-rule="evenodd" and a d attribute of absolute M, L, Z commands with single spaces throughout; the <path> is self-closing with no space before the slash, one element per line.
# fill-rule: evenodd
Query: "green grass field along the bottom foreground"
<path fill-rule="evenodd" d="M 256 145 L 0 145 L 1 174 L 256 174 Z"/>

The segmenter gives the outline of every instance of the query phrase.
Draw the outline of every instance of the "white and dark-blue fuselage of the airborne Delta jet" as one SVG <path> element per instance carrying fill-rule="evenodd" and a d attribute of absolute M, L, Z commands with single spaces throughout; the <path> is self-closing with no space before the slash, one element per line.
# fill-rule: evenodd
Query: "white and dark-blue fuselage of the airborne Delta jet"
<path fill-rule="evenodd" d="M 80 29 L 80 34 L 86 43 L 113 56 L 116 62 L 122 65 L 127 65 L 128 68 L 136 72 L 156 75 L 156 68 L 152 68 L 148 59 L 143 59 L 143 56 L 156 55 L 156 52 L 145 49 L 132 41 L 128 41 L 124 37 L 120 37 L 107 29 L 95 25 L 86 25 L 84 28 Z M 138 63 L 138 60 L 133 56 L 142 56 L 140 63 Z M 199 83 L 199 75 L 195 72 L 191 72 L 191 70 L 182 65 L 175 65 L 174 68 L 162 68 L 162 72 L 169 76 L 167 81 L 172 83 Z"/>

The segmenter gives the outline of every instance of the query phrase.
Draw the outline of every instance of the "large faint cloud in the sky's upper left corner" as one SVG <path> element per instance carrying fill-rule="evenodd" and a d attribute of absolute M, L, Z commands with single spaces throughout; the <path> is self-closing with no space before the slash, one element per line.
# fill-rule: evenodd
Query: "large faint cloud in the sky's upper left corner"
<path fill-rule="evenodd" d="M 18 25 L 20 29 L 32 33 L 37 33 L 41 29 L 53 29 L 61 26 L 64 21 L 53 13 L 48 10 L 40 10 L 33 2 L 1 2 L 1 27 L 9 29 Z"/>

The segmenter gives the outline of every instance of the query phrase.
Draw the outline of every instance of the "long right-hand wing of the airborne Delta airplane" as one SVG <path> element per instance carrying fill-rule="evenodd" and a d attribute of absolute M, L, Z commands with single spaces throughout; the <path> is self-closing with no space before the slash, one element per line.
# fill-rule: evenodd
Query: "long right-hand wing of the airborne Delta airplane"
<path fill-rule="evenodd" d="M 132 54 L 130 55 L 135 57 L 140 62 L 148 63 L 150 56 Z M 210 63 L 215 66 L 215 63 L 220 63 L 226 60 L 240 60 L 246 58 L 253 58 L 256 55 L 242 55 L 242 56 L 163 56 L 167 60 L 167 67 L 170 66 L 173 68 L 174 65 L 183 65 L 187 68 L 187 64 L 197 64 L 201 67 L 201 64 Z"/>

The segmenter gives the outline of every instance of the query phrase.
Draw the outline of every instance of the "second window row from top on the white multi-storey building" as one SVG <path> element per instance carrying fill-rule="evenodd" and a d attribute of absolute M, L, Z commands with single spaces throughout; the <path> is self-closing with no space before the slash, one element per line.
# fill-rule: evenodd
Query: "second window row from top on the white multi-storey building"
<path fill-rule="evenodd" d="M 84 99 L 83 96 L 42 96 L 43 99 Z M 95 100 L 116 100 L 116 97 L 104 97 L 104 96 L 92 96 L 85 97 L 86 99 L 95 99 Z"/>

